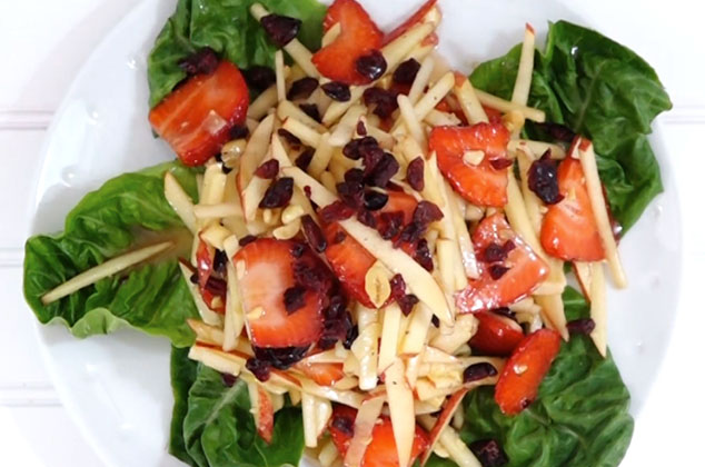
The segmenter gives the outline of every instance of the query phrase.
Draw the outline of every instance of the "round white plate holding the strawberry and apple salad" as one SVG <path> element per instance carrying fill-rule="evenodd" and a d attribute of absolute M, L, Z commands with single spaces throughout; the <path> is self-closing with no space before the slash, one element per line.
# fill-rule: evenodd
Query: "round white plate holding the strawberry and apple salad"
<path fill-rule="evenodd" d="M 419 2 L 363 1 L 383 27 Z M 165 143 L 152 138 L 147 122 L 146 58 L 175 4 L 175 0 L 140 3 L 77 76 L 44 147 L 34 232 L 60 230 L 68 210 L 108 178 L 172 158 Z M 440 4 L 445 12 L 440 49 L 463 71 L 505 53 L 522 39 L 527 21 L 539 34 L 545 33 L 547 20 L 579 22 L 555 0 L 441 0 Z M 543 36 L 539 39 L 543 43 Z M 632 391 L 634 414 L 645 403 L 668 342 L 682 264 L 672 171 L 658 132 L 652 142 L 666 191 L 620 246 L 629 289 L 609 292 L 609 342 Z M 107 465 L 181 465 L 166 451 L 172 404 L 167 340 L 131 330 L 76 340 L 62 327 L 38 328 L 61 399 Z"/>

